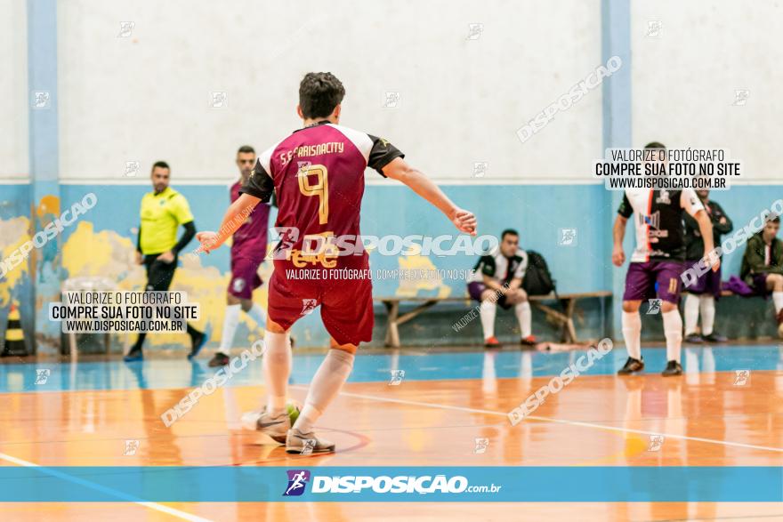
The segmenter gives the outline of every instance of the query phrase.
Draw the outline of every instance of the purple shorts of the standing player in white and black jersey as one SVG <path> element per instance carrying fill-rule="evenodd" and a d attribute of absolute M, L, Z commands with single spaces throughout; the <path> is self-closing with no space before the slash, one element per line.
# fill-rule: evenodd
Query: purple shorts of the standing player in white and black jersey
<path fill-rule="evenodd" d="M 626 274 L 623 301 L 680 301 L 682 261 L 632 262 Z"/>

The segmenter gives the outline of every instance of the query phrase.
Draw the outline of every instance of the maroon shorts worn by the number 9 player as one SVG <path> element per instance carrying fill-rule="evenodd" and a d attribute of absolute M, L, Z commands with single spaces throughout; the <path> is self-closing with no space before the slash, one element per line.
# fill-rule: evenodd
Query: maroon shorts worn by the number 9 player
<path fill-rule="evenodd" d="M 340 267 L 351 273 L 340 277 L 332 277 L 339 274 L 335 269 L 297 269 L 290 261 L 276 260 L 269 282 L 270 319 L 287 330 L 320 306 L 321 320 L 337 343 L 372 341 L 375 314 L 369 262 L 366 253 L 352 258 L 346 256 Z"/>

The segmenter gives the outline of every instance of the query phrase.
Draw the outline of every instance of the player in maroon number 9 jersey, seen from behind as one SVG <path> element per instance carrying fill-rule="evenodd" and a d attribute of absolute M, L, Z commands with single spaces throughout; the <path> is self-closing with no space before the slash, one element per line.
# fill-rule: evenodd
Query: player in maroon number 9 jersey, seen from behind
<path fill-rule="evenodd" d="M 410 167 L 389 141 L 340 124 L 343 84 L 331 73 L 308 73 L 299 86 L 297 114 L 303 128 L 264 151 L 230 205 L 219 232 L 198 234 L 199 249 L 210 252 L 237 227 L 236 216 L 274 192 L 278 199 L 276 227 L 290 233 L 274 255 L 269 283 L 269 307 L 263 371 L 267 405 L 243 415 L 243 423 L 261 430 L 288 453 L 331 452 L 335 445 L 316 437 L 313 425 L 337 396 L 353 367 L 359 342 L 373 331 L 372 282 L 367 252 L 361 242 L 348 255 L 339 255 L 345 237 L 359 232 L 359 210 L 367 167 L 385 178 L 401 181 L 444 213 L 457 230 L 476 234 L 475 216 L 456 206 L 423 173 Z M 320 245 L 314 249 L 312 245 Z M 307 270 L 307 271 L 305 271 Z M 336 274 L 351 277 L 336 278 Z M 364 274 L 365 277 L 355 277 Z M 318 276 L 318 277 L 316 277 Z M 297 319 L 320 306 L 331 337 L 331 349 L 312 379 L 304 406 L 291 426 L 286 411 L 291 373 L 288 332 Z"/>

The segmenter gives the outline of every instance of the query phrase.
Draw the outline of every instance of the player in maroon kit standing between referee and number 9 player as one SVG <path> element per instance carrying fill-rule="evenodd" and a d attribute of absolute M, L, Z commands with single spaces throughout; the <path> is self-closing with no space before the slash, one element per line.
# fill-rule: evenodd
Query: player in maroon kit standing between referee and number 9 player
<path fill-rule="evenodd" d="M 250 177 L 255 165 L 255 150 L 244 145 L 237 151 L 239 180 L 231 186 L 231 203 L 237 201 L 239 190 Z M 242 224 L 234 232 L 231 244 L 231 280 L 226 292 L 226 313 L 223 317 L 221 344 L 209 365 L 229 364 L 229 351 L 239 324 L 239 311 L 244 311 L 258 327 L 266 325 L 266 313 L 258 303 L 253 302 L 253 291 L 261 286 L 258 267 L 266 257 L 267 230 L 269 229 L 270 205 L 262 203 L 247 211 Z"/>

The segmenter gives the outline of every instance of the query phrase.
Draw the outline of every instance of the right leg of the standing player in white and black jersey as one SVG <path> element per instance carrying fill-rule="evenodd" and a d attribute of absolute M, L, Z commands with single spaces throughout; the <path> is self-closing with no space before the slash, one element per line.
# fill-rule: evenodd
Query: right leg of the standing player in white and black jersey
<path fill-rule="evenodd" d="M 666 337 L 665 377 L 682 375 L 682 317 L 677 304 L 680 301 L 682 263 L 659 261 L 656 264 L 658 299 L 661 300 L 661 318 L 664 321 Z"/>

